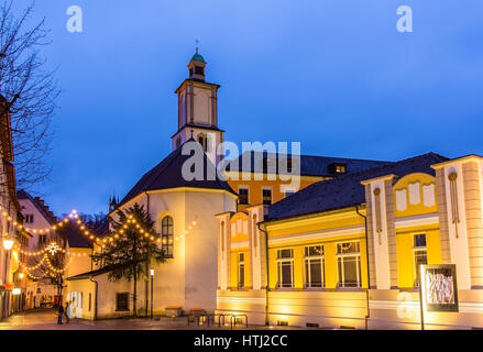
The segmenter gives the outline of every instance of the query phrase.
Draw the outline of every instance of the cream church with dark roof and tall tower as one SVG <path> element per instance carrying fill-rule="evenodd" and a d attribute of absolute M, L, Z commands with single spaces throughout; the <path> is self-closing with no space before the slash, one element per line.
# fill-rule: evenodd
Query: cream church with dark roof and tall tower
<path fill-rule="evenodd" d="M 144 209 L 163 234 L 167 260 L 153 265 L 153 310 L 164 314 L 176 307 L 184 311 L 217 306 L 218 258 L 216 215 L 237 210 L 238 195 L 217 177 L 212 180 L 185 180 L 183 145 L 191 139 L 204 148 L 205 173 L 213 169 L 216 148 L 223 140 L 218 129 L 218 85 L 205 81 L 206 62 L 196 53 L 178 95 L 178 131 L 172 136 L 173 152 L 147 172 L 110 212 L 125 210 L 134 204 Z M 191 141 L 193 141 L 191 140 Z M 76 257 L 72 266 L 84 265 L 88 256 Z M 67 278 L 66 297 L 77 297 L 76 317 L 114 318 L 131 315 L 133 284 L 125 279 L 111 282 L 109 271 L 98 267 Z M 147 292 L 149 290 L 149 292 Z M 138 314 L 151 306 L 151 287 L 138 283 Z"/>

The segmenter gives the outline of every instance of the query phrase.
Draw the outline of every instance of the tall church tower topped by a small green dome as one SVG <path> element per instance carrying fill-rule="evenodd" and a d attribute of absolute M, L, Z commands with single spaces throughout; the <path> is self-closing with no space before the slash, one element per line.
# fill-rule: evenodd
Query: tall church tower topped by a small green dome
<path fill-rule="evenodd" d="M 178 131 L 172 136 L 172 147 L 176 150 L 193 136 L 217 165 L 222 157 L 217 156 L 217 148 L 224 136 L 224 131 L 218 128 L 217 95 L 220 86 L 206 81 L 206 66 L 196 48 L 188 64 L 189 78 L 175 91 L 178 96 Z"/>

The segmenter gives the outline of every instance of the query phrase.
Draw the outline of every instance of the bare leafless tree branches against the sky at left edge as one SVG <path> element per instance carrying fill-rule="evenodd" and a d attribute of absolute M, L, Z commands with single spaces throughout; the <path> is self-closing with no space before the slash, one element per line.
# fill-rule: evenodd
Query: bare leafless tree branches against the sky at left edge
<path fill-rule="evenodd" d="M 11 116 L 17 184 L 33 190 L 50 182 L 52 167 L 46 156 L 61 90 L 55 70 L 46 69 L 46 59 L 40 53 L 42 46 L 51 43 L 45 19 L 29 24 L 34 1 L 20 15 L 12 10 L 13 0 L 0 1 L 0 95 L 7 101 L 0 116 Z"/>

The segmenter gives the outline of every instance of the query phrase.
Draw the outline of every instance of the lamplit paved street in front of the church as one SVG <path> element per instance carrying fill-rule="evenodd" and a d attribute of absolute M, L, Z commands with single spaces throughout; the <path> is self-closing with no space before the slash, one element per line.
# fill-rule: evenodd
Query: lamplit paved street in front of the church
<path fill-rule="evenodd" d="M 70 323 L 57 324 L 57 315 L 54 309 L 28 310 L 0 321 L 0 330 L 186 330 L 186 329 L 219 329 L 218 324 L 188 326 L 187 318 L 150 319 L 110 319 L 110 320 L 70 320 Z M 221 329 L 230 329 L 222 327 Z M 237 329 L 245 329 L 237 326 Z M 250 327 L 250 329 L 267 329 L 265 327 Z M 285 328 L 286 329 L 286 328 Z"/>

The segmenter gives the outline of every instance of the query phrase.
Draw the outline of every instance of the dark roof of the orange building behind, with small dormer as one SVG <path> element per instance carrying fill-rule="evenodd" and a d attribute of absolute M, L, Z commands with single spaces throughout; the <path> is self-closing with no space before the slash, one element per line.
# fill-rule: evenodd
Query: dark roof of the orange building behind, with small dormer
<path fill-rule="evenodd" d="M 262 170 L 263 168 L 263 157 L 276 158 L 276 154 L 263 152 L 246 152 L 251 153 L 251 164 L 249 167 L 243 165 L 243 154 L 238 157 L 239 169 L 246 172 Z M 255 168 L 255 154 L 259 156 L 259 163 Z M 279 156 L 282 158 L 282 155 Z M 289 155 L 288 155 L 289 157 Z M 388 162 L 382 161 L 369 161 L 359 158 L 347 158 L 347 157 L 333 157 L 333 156 L 316 156 L 316 155 L 300 155 L 300 175 L 304 176 L 319 176 L 319 177 L 336 177 L 340 176 L 333 169 L 333 165 L 343 164 L 347 167 L 345 174 L 352 174 L 367 168 L 376 167 L 380 165 L 386 165 Z M 293 165 L 295 166 L 295 158 L 293 158 Z M 266 172 L 266 170 L 264 170 Z"/>

